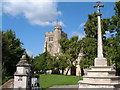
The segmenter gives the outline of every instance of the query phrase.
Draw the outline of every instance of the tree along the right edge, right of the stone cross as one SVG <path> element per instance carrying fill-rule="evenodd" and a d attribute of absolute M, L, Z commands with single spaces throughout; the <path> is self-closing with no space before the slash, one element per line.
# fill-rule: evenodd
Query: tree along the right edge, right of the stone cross
<path fill-rule="evenodd" d="M 120 1 L 115 3 L 115 15 L 110 19 L 111 37 L 106 42 L 106 56 L 109 64 L 115 64 L 116 74 L 120 75 Z"/>

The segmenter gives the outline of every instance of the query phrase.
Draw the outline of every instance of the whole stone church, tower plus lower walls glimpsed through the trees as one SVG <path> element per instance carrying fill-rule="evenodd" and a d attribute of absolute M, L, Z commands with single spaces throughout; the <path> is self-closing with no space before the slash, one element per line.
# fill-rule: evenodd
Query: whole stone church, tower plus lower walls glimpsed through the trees
<path fill-rule="evenodd" d="M 45 42 L 44 42 L 44 52 L 49 52 L 52 56 L 60 55 L 60 44 L 58 40 L 62 38 L 67 38 L 67 34 L 62 31 L 62 26 L 55 26 L 54 31 L 46 32 L 45 34 Z M 82 57 L 82 53 L 78 55 L 78 59 L 76 60 L 77 64 L 71 70 L 69 70 L 68 75 L 80 75 L 80 59 Z M 67 72 L 68 68 L 65 69 L 64 74 Z M 48 71 L 51 73 L 51 70 Z"/>

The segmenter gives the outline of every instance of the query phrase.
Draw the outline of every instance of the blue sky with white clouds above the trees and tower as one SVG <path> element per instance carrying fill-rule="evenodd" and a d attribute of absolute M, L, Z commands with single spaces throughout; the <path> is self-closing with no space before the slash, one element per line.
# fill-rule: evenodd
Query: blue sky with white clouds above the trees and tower
<path fill-rule="evenodd" d="M 49 1 L 49 0 L 44 0 Z M 2 30 L 12 29 L 20 38 L 23 48 L 30 56 L 43 53 L 45 32 L 54 31 L 56 24 L 61 25 L 68 38 L 85 36 L 84 24 L 88 14 L 97 11 L 95 2 L 3 2 Z M 102 2 L 102 18 L 114 15 L 114 2 Z"/>

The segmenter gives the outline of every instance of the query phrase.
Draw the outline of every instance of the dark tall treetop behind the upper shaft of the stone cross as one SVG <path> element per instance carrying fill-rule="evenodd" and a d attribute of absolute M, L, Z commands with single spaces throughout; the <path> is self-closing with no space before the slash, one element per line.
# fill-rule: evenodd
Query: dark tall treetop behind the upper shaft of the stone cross
<path fill-rule="evenodd" d="M 105 34 L 106 34 L 106 31 L 109 30 L 109 25 L 110 25 L 110 18 L 101 19 L 103 39 L 106 38 Z M 84 31 L 85 31 L 86 37 L 97 39 L 98 19 L 97 19 L 96 12 L 88 15 L 88 20 L 84 26 L 85 26 Z"/>

